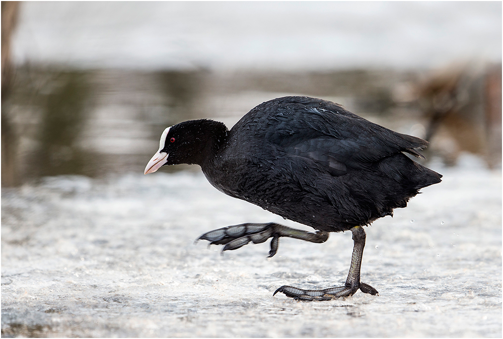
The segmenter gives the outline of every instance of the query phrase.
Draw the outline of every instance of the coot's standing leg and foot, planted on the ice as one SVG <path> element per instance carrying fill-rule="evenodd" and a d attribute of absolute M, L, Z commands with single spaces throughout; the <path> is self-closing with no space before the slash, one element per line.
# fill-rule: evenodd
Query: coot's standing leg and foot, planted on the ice
<path fill-rule="evenodd" d="M 370 285 L 360 282 L 360 267 L 362 266 L 363 249 L 365 247 L 365 231 L 362 226 L 351 228 L 353 235 L 353 254 L 351 265 L 344 286 L 328 288 L 325 290 L 302 290 L 292 286 L 281 286 L 274 294 L 281 292 L 287 297 L 299 300 L 330 300 L 334 298 L 352 296 L 358 289 L 372 295 L 378 294 L 377 290 Z M 273 294 L 273 295 L 274 295 Z"/>

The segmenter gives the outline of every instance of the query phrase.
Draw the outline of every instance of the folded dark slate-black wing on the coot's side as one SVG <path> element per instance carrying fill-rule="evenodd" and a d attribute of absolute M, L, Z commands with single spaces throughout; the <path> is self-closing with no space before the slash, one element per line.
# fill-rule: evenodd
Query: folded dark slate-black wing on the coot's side
<path fill-rule="evenodd" d="M 268 117 L 266 140 L 286 155 L 311 159 L 331 175 L 363 169 L 399 152 L 422 157 L 415 149 L 428 142 L 394 132 L 346 111 L 339 105 L 306 97 L 279 98 Z"/>

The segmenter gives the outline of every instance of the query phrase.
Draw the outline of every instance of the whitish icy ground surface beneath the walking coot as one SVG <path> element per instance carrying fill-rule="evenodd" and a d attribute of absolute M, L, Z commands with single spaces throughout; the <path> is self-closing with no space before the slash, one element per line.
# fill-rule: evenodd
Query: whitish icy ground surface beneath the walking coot
<path fill-rule="evenodd" d="M 501 337 L 501 172 L 437 168 L 441 184 L 367 228 L 362 281 L 380 295 L 300 302 L 283 285 L 343 284 L 350 232 L 222 257 L 202 233 L 305 226 L 200 173 L 50 177 L 2 189 L 2 336 Z"/>

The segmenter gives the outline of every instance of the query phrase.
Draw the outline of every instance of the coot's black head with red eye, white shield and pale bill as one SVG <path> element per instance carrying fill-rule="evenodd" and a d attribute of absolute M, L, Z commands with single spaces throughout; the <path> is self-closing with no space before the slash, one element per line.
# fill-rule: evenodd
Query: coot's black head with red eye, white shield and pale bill
<path fill-rule="evenodd" d="M 164 165 L 202 165 L 225 143 L 227 132 L 222 122 L 207 119 L 184 121 L 166 128 L 145 174 L 154 173 Z"/>

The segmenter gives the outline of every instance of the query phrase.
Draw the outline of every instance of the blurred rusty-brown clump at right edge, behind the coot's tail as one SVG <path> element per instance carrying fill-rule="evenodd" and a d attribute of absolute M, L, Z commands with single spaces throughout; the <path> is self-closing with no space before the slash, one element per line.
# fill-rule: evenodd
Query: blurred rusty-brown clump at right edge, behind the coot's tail
<path fill-rule="evenodd" d="M 425 139 L 444 142 L 444 157 L 455 163 L 460 152 L 501 163 L 501 63 L 455 65 L 437 70 L 419 85 L 428 117 Z M 447 147 L 447 140 L 453 141 Z"/>

